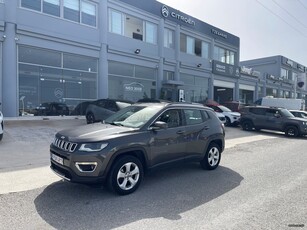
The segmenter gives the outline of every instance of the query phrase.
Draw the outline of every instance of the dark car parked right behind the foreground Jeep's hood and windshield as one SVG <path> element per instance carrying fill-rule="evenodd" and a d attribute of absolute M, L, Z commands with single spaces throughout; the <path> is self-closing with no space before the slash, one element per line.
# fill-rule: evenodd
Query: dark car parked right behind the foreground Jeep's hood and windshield
<path fill-rule="evenodd" d="M 115 112 L 131 105 L 133 102 L 114 100 L 114 99 L 99 99 L 91 102 L 86 108 L 86 122 L 88 124 L 103 121 Z"/>

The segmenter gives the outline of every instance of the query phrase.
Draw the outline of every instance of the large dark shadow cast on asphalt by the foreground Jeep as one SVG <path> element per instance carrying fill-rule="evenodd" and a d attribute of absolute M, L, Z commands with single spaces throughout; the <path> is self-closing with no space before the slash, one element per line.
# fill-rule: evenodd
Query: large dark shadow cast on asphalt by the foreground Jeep
<path fill-rule="evenodd" d="M 204 171 L 191 163 L 146 175 L 127 196 L 60 181 L 46 187 L 34 203 L 56 229 L 113 229 L 147 218 L 181 219 L 181 213 L 223 196 L 243 179 L 226 167 Z"/>

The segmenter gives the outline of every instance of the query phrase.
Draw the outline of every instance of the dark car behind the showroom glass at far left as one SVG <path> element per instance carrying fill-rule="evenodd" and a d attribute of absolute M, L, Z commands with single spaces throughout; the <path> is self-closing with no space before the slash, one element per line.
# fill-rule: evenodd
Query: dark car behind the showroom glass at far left
<path fill-rule="evenodd" d="M 45 102 L 36 107 L 34 115 L 36 116 L 67 116 L 69 108 L 61 102 Z"/>

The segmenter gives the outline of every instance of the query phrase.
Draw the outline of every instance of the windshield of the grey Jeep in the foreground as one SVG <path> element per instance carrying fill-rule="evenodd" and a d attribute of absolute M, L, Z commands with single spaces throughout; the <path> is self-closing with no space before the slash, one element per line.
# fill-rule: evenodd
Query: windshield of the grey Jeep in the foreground
<path fill-rule="evenodd" d="M 160 109 L 162 105 L 132 105 L 128 106 L 105 120 L 105 123 L 121 125 L 131 128 L 140 128 L 147 123 Z"/>

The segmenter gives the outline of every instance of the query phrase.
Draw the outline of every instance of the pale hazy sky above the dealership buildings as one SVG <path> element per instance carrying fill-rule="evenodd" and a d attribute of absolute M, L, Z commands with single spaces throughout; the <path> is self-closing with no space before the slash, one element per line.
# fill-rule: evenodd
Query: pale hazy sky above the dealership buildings
<path fill-rule="evenodd" d="M 240 61 L 282 55 L 307 66 L 307 0 L 159 0 L 240 37 Z"/>

